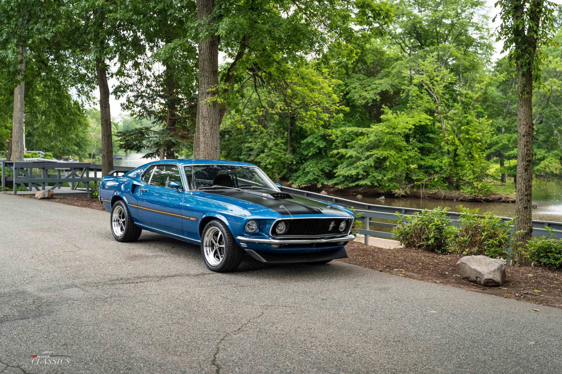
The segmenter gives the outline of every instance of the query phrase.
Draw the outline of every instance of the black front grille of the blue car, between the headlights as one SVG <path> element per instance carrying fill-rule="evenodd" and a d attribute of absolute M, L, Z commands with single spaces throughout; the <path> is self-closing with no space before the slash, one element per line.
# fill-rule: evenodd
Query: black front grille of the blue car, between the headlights
<path fill-rule="evenodd" d="M 275 223 L 271 234 L 274 236 L 336 236 L 347 234 L 350 231 L 350 219 L 342 218 L 305 218 L 294 220 L 283 220 L 289 228 L 283 234 L 277 234 L 275 227 L 280 222 Z M 346 228 L 343 232 L 339 231 L 339 224 L 346 221 Z M 332 225 L 332 222 L 334 223 Z M 332 229 L 330 230 L 330 226 Z"/>

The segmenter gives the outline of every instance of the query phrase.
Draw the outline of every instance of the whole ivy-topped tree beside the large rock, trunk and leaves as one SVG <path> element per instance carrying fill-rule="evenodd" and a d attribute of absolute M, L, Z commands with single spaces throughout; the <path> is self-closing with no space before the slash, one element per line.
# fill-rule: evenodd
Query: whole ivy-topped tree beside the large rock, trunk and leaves
<path fill-rule="evenodd" d="M 546 0 L 498 0 L 502 52 L 515 66 L 517 84 L 517 184 L 515 202 L 516 264 L 528 265 L 521 248 L 531 239 L 533 192 L 533 84 L 541 82 L 541 66 L 548 56 L 543 47 L 555 44 L 552 14 L 557 7 Z"/>

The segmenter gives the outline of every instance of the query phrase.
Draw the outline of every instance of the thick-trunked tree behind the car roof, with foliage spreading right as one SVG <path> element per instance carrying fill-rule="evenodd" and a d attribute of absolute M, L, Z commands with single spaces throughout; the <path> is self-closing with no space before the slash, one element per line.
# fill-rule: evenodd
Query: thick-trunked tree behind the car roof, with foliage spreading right
<path fill-rule="evenodd" d="M 311 55 L 321 57 L 343 35 L 361 34 L 391 19 L 388 4 L 374 0 L 231 0 L 217 4 L 197 2 L 200 85 L 194 149 L 196 156 L 213 158 L 219 155 L 220 122 L 228 101 L 236 96 L 230 88 L 237 77 L 251 71 L 265 76 L 275 65 Z M 232 58 L 221 80 L 219 49 Z"/>

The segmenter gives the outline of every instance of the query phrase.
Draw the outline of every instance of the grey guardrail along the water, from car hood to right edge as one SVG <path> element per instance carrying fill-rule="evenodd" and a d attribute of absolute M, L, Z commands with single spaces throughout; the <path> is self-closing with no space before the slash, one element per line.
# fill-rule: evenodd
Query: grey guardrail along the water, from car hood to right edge
<path fill-rule="evenodd" d="M 281 187 L 284 192 L 290 192 L 294 195 L 301 195 L 305 197 L 314 198 L 316 200 L 333 202 L 334 204 L 353 207 L 356 213 L 361 214 L 360 219 L 363 220 L 363 229 L 358 229 L 360 234 L 365 236 L 365 244 L 369 243 L 369 236 L 381 237 L 381 238 L 393 238 L 392 233 L 386 231 L 371 230 L 371 226 L 380 228 L 393 228 L 396 227 L 396 223 L 380 222 L 372 219 L 378 220 L 389 220 L 396 221 L 397 216 L 403 217 L 404 215 L 411 215 L 415 212 L 422 212 L 424 209 L 406 208 L 398 206 L 387 206 L 387 205 L 377 205 L 368 204 L 361 201 L 348 200 L 347 198 L 341 198 L 330 195 L 322 195 L 321 193 L 309 192 L 303 190 L 297 190 L 291 187 Z M 458 225 L 459 218 L 463 215 L 462 213 L 447 212 L 448 218 L 451 220 L 451 224 Z M 502 220 L 509 221 L 511 218 L 502 217 Z M 552 221 L 542 221 L 533 220 L 533 236 L 540 237 L 543 235 L 548 236 L 549 231 L 544 227 L 547 226 L 554 230 L 553 238 L 562 239 L 562 222 L 552 222 Z"/>

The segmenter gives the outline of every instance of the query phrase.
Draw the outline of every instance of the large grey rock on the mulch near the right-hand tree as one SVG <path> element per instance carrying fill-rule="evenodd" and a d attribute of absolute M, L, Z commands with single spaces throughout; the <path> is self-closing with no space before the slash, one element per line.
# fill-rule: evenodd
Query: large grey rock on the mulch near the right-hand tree
<path fill-rule="evenodd" d="M 505 281 L 505 265 L 501 260 L 488 256 L 464 256 L 457 266 L 459 275 L 474 283 L 491 286 Z"/>

